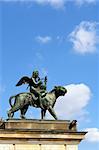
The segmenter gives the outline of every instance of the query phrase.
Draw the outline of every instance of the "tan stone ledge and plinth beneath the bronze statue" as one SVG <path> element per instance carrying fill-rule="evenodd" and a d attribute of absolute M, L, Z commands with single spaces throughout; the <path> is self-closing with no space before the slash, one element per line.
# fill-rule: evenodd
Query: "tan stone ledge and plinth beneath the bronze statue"
<path fill-rule="evenodd" d="M 0 150 L 77 150 L 86 132 L 70 121 L 8 120 L 0 129 Z"/>

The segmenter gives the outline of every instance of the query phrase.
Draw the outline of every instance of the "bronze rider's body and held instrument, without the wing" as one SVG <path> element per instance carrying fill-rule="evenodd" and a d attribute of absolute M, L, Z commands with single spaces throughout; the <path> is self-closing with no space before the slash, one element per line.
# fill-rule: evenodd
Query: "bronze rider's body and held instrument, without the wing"
<path fill-rule="evenodd" d="M 40 107 L 43 108 L 41 98 L 43 98 L 47 94 L 46 92 L 47 77 L 45 77 L 44 80 L 45 84 L 43 85 L 43 82 L 39 77 L 39 72 L 33 71 L 31 79 L 32 82 L 30 85 L 30 92 L 35 95 L 36 97 L 35 100 L 39 101 Z"/>

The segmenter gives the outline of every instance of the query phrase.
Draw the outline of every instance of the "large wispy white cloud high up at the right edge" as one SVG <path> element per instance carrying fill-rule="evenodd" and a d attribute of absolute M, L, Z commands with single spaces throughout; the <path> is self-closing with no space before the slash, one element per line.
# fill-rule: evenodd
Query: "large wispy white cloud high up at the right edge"
<path fill-rule="evenodd" d="M 99 23 L 83 21 L 69 35 L 73 49 L 80 54 L 93 53 L 99 44 Z"/>

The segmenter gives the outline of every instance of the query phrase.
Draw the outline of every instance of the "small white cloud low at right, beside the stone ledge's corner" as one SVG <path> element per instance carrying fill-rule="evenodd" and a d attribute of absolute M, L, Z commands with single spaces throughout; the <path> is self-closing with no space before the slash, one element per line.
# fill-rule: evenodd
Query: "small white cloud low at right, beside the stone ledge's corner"
<path fill-rule="evenodd" d="M 99 142 L 99 129 L 98 128 L 87 128 L 85 131 L 88 133 L 85 136 L 85 139 L 88 142 Z"/>

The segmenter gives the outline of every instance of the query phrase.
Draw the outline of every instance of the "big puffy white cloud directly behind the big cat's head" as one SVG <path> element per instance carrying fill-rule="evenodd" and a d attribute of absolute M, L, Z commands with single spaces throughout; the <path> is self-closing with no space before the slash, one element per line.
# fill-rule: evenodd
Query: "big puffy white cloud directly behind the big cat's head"
<path fill-rule="evenodd" d="M 90 88 L 81 84 L 70 84 L 65 86 L 67 94 L 57 100 L 55 110 L 61 119 L 84 118 L 86 115 L 85 107 L 91 99 Z"/>

